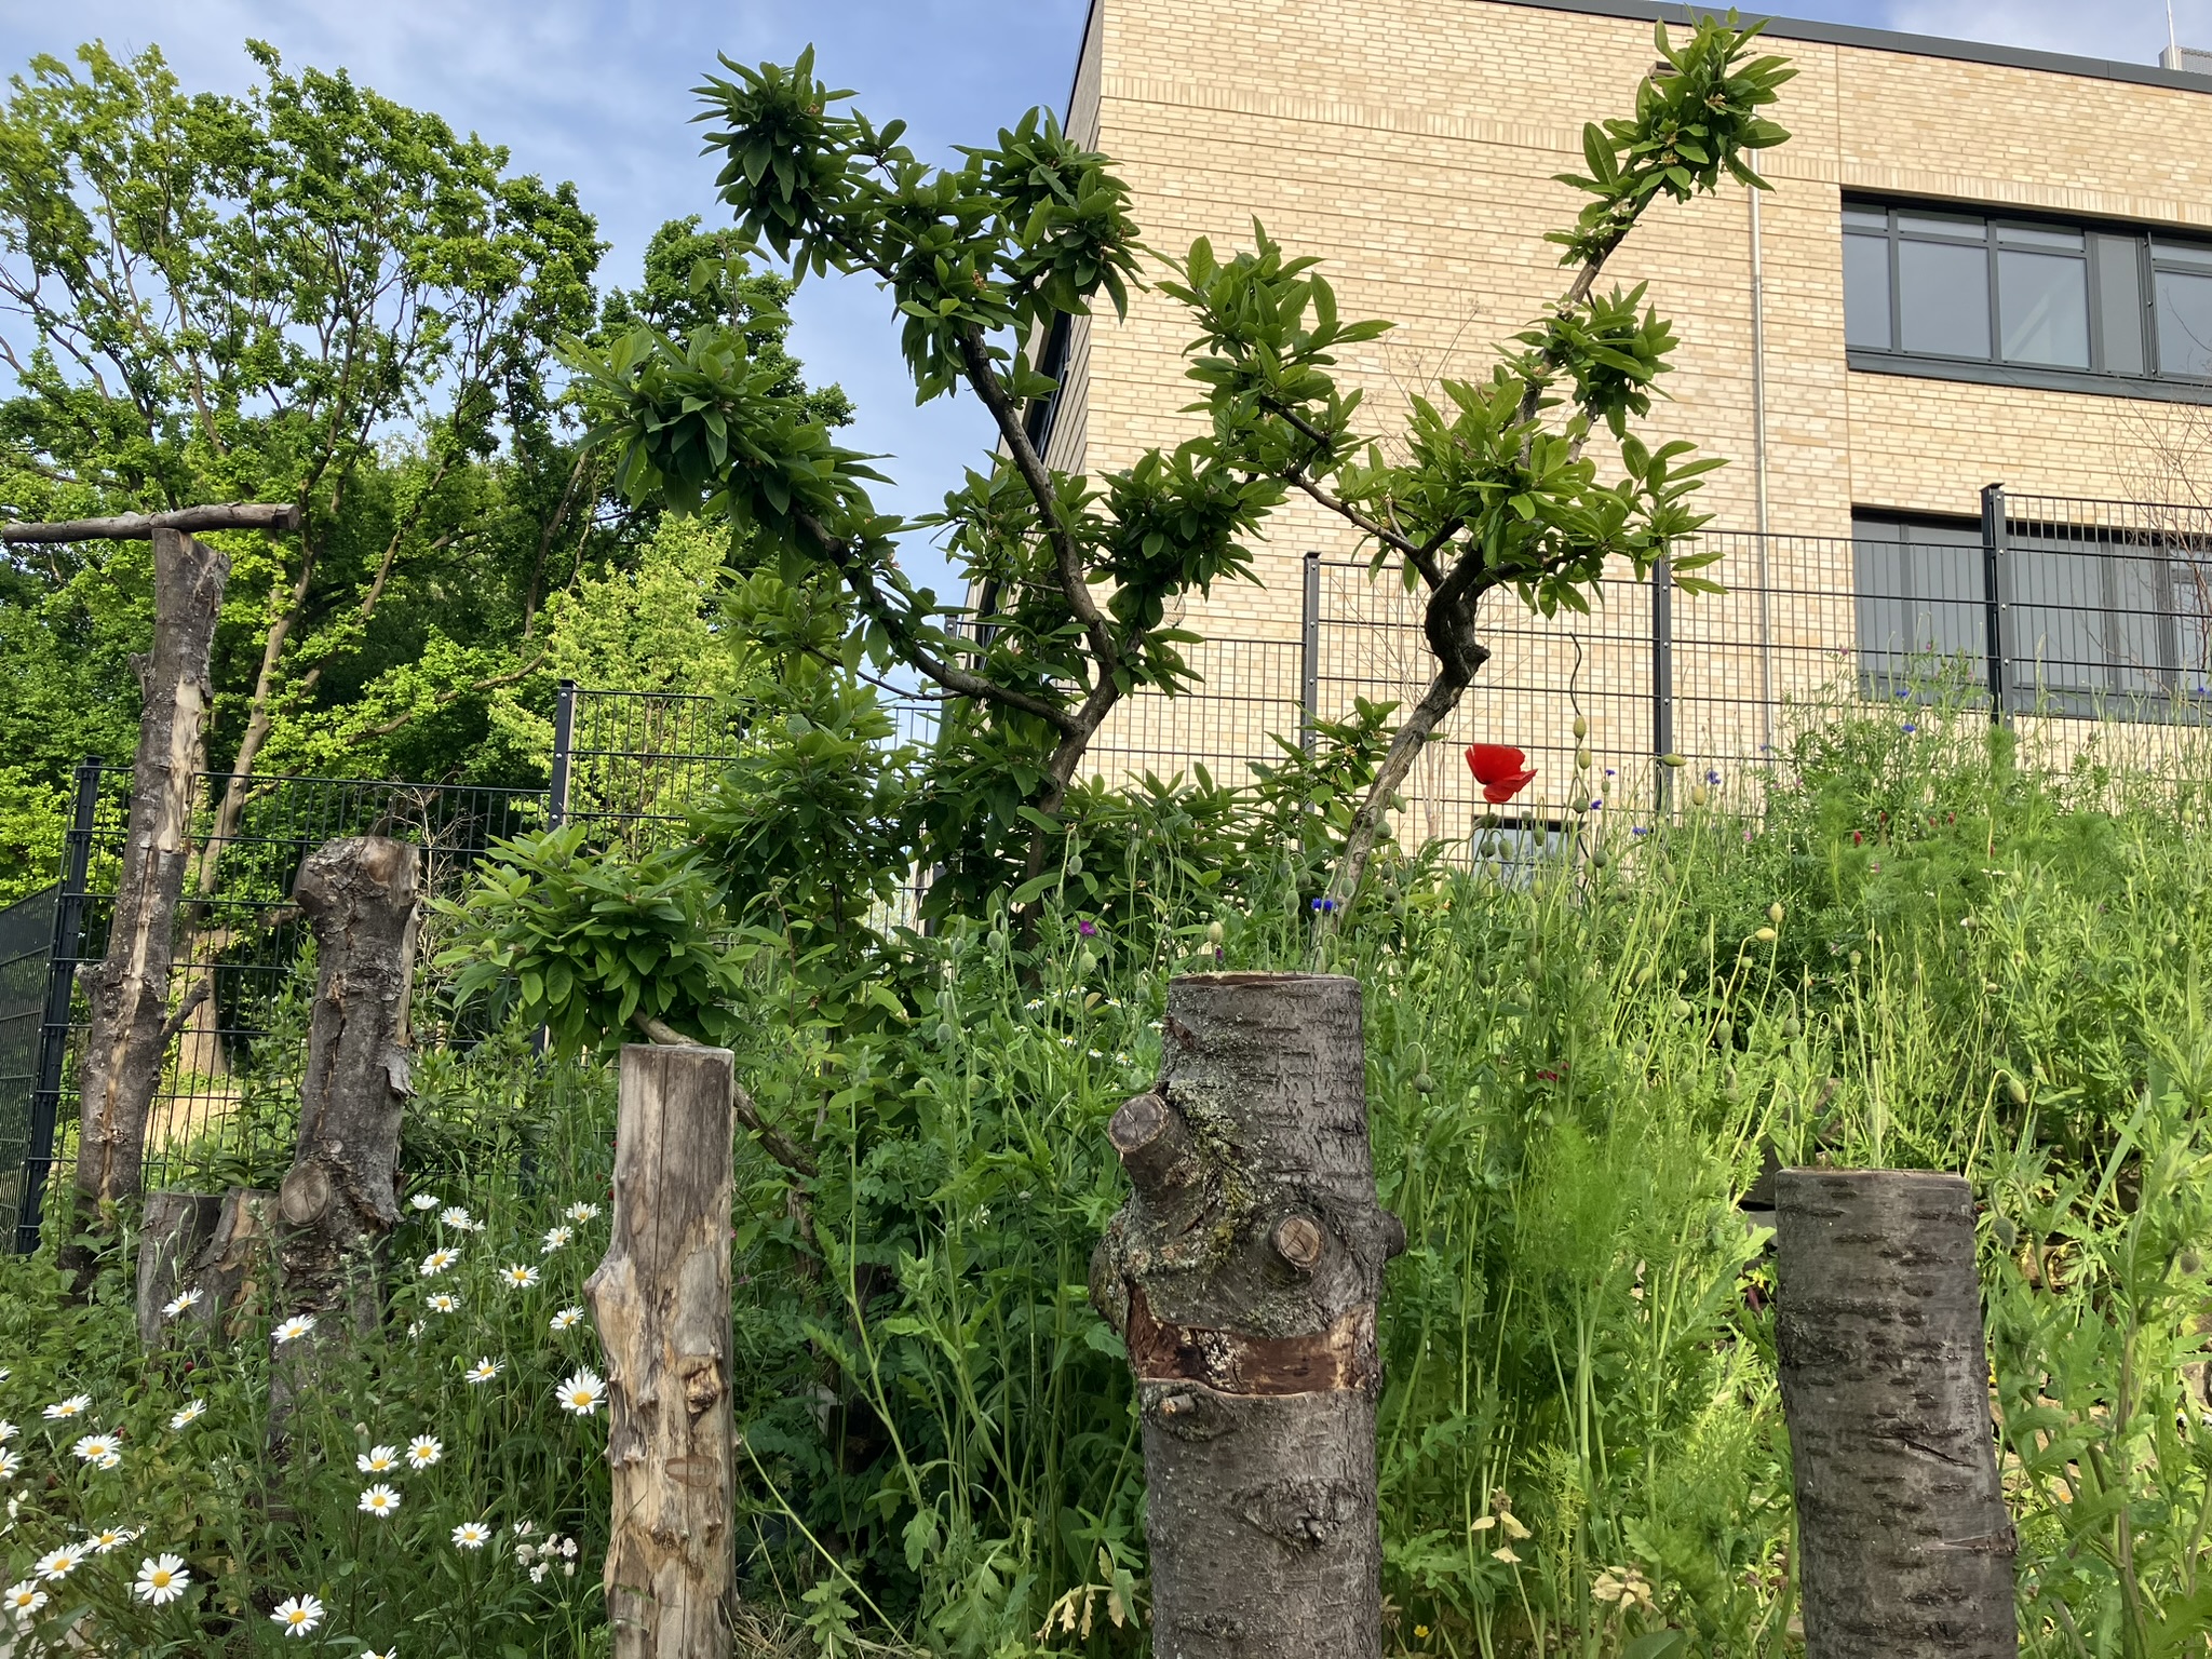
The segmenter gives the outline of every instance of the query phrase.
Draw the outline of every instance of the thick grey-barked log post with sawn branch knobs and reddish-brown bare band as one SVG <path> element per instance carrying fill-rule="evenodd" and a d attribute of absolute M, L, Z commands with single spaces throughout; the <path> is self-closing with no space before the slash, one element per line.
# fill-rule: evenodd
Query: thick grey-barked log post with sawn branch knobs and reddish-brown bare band
<path fill-rule="evenodd" d="M 1091 1263 L 1144 1420 L 1159 1659 L 1376 1659 L 1376 1206 L 1358 980 L 1168 987 L 1130 1199 Z"/>

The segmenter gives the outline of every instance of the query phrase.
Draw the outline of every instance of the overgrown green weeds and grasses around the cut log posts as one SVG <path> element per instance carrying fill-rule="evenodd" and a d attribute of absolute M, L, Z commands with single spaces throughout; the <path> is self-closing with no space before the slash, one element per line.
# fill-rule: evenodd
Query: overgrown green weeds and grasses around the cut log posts
<path fill-rule="evenodd" d="M 2059 770 L 2022 741 L 1958 703 L 1829 712 L 1670 812 L 1396 856 L 1327 940 L 1367 989 L 1378 1183 L 1411 1241 L 1383 1305 L 1389 1652 L 1803 1652 L 1763 1172 L 1816 1161 L 1975 1186 L 2024 1650 L 2205 1650 L 2212 765 L 2181 728 L 2157 772 L 2095 728 Z M 1155 1075 L 1172 975 L 1314 964 L 1327 836 L 1283 799 L 1086 794 L 1035 938 L 1004 914 L 900 936 L 874 1026 L 748 956 L 741 1073 L 821 1172 L 741 1146 L 745 1644 L 1146 1650 L 1130 1383 L 1086 1294 L 1124 1197 L 1104 1124 Z M 425 1073 L 409 1190 L 491 1232 L 409 1212 L 385 1334 L 281 1455 L 265 1345 L 139 1360 L 119 1281 L 66 1310 L 49 1267 L 9 1270 L 9 1577 L 146 1528 L 42 1586 L 38 1639 L 290 1650 L 270 1613 L 314 1593 L 336 1652 L 591 1650 L 602 1420 L 553 1385 L 593 1347 L 546 1321 L 604 1234 L 538 1245 L 602 1201 L 606 1082 L 520 1037 Z M 462 1265 L 422 1276 L 440 1243 Z M 544 1283 L 504 1290 L 507 1263 Z M 447 1285 L 460 1307 L 427 1312 Z M 469 1385 L 480 1356 L 507 1369 Z M 124 1431 L 119 1469 L 40 1418 L 71 1394 Z M 354 1460 L 416 1431 L 445 1462 L 376 1522 Z M 498 1544 L 456 1551 L 469 1520 Z M 575 1579 L 531 1582 L 520 1520 L 577 1540 Z M 192 1573 L 173 1606 L 128 1590 L 153 1548 Z"/>

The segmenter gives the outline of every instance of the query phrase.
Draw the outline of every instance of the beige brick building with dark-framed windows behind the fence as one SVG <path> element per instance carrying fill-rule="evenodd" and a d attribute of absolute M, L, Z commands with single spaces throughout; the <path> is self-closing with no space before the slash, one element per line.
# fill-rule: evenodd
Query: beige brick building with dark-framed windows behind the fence
<path fill-rule="evenodd" d="M 1557 292 L 1542 237 L 1579 197 L 1553 175 L 1582 168 L 1584 119 L 1628 108 L 1655 20 L 1683 15 L 1095 0 L 1068 126 L 1115 157 L 1150 246 L 1225 252 L 1256 215 L 1323 259 L 1345 316 L 1396 319 L 1343 363 L 1387 411 L 1486 374 Z M 2024 717 L 2203 679 L 2194 518 L 2115 504 L 2212 500 L 2212 75 L 1787 20 L 1767 35 L 1801 71 L 1774 111 L 1792 139 L 1763 157 L 1774 190 L 1661 204 L 1608 265 L 1648 279 L 1681 336 L 1646 431 L 1732 462 L 1705 502 L 1732 591 L 1621 582 L 1573 630 L 1493 595 L 1500 650 L 1453 732 L 1551 750 L 1553 796 L 1571 679 L 1619 787 L 1655 748 L 1752 761 L 1807 699 L 1889 695 L 1911 653 L 1980 653 L 1966 672 L 1995 661 Z M 1066 369 L 1048 458 L 1110 471 L 1183 436 L 1186 341 L 1170 301 L 1137 294 L 1126 323 L 1044 343 Z M 1993 482 L 2011 504 L 1984 513 Z M 1133 706 L 1113 763 L 1234 770 L 1301 703 L 1413 695 L 1411 613 L 1354 553 L 1347 526 L 1285 504 L 1265 586 L 1188 611 L 1206 706 Z M 1458 761 L 1433 761 L 1418 827 L 1464 834 Z"/>

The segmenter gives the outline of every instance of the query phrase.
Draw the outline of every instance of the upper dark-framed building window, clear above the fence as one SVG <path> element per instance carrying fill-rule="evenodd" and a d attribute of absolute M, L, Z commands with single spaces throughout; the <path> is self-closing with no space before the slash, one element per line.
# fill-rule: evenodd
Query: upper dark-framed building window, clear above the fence
<path fill-rule="evenodd" d="M 2212 400 L 2212 243 L 1849 201 L 1843 334 L 1851 367 Z"/>

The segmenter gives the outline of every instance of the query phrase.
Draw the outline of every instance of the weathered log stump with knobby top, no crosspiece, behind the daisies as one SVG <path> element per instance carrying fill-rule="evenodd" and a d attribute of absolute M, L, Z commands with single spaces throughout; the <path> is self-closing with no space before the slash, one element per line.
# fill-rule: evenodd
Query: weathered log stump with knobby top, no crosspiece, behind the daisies
<path fill-rule="evenodd" d="M 380 1312 L 363 1261 L 400 1214 L 392 1183 L 414 1064 L 416 869 L 409 843 L 349 836 L 307 854 L 292 885 L 314 927 L 316 973 L 299 1150 L 276 1192 L 283 1303 L 301 1314 L 345 1305 L 356 1332 Z"/>

